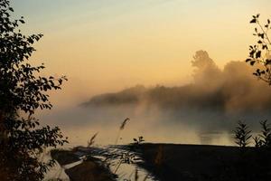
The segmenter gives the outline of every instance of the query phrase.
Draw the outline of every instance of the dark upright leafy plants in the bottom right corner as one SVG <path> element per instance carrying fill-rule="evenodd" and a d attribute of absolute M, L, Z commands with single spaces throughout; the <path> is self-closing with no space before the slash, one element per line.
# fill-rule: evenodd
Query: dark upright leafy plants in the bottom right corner
<path fill-rule="evenodd" d="M 260 134 L 253 138 L 255 147 L 248 148 L 251 130 L 245 123 L 238 122 L 235 138 L 242 154 L 235 165 L 229 167 L 238 180 L 270 180 L 271 178 L 271 127 L 267 120 L 260 121 L 260 125 L 262 128 Z M 251 164 L 254 167 L 250 167 Z"/>

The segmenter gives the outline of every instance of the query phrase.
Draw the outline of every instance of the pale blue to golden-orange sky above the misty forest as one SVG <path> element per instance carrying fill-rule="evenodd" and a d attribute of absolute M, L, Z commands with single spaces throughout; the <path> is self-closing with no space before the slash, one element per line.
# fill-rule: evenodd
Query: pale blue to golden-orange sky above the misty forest
<path fill-rule="evenodd" d="M 243 61 L 254 43 L 253 14 L 270 0 L 12 0 L 25 33 L 43 33 L 33 59 L 70 81 L 58 105 L 135 84 L 192 80 L 192 55 L 205 50 L 222 67 Z"/>

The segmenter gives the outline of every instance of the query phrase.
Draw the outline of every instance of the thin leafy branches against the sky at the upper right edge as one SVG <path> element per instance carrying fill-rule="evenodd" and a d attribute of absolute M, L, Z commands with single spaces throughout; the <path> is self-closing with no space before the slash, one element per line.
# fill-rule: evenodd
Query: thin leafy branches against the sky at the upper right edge
<path fill-rule="evenodd" d="M 257 65 L 257 70 L 253 73 L 258 79 L 266 81 L 271 85 L 271 41 L 268 37 L 268 31 L 271 29 L 270 20 L 266 24 L 261 24 L 259 14 L 253 15 L 250 24 L 257 24 L 254 36 L 257 37 L 257 44 L 249 46 L 249 55 L 246 62 L 250 65 Z"/>

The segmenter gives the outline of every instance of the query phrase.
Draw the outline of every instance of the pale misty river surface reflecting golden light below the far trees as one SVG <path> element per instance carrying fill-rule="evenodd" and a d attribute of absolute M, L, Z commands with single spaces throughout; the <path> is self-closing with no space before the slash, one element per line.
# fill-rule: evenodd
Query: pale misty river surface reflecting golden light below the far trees
<path fill-rule="evenodd" d="M 46 124 L 60 126 L 69 137 L 70 148 L 87 146 L 89 138 L 97 132 L 96 146 L 113 145 L 119 125 L 126 118 L 130 121 L 121 131 L 119 144 L 131 143 L 133 138 L 143 136 L 147 142 L 154 143 L 233 145 L 231 130 L 238 120 L 211 111 L 199 113 L 134 107 L 75 107 L 45 112 L 40 118 Z"/>

